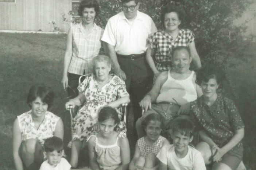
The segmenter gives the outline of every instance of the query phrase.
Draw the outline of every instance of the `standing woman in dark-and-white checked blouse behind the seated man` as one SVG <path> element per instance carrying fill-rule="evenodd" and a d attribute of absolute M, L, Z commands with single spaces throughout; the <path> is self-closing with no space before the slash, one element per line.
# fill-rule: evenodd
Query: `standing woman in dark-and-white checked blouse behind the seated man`
<path fill-rule="evenodd" d="M 178 7 L 167 6 L 161 13 L 164 29 L 161 29 L 148 38 L 149 48 L 146 59 L 157 77 L 160 72 L 171 69 L 171 50 L 177 46 L 187 46 L 190 50 L 192 61 L 197 68 L 201 61 L 195 49 L 194 34 L 189 29 L 179 29 L 181 12 Z M 182 66 L 182 65 L 181 65 Z"/>

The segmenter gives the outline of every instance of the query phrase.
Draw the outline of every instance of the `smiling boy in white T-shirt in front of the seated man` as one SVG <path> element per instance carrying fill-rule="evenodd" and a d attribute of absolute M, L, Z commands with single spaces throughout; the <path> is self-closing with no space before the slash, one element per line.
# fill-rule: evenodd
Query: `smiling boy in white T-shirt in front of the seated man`
<path fill-rule="evenodd" d="M 173 144 L 162 147 L 156 156 L 159 170 L 206 170 L 201 153 L 189 146 L 193 140 L 194 125 L 187 118 L 178 118 L 172 126 Z"/>

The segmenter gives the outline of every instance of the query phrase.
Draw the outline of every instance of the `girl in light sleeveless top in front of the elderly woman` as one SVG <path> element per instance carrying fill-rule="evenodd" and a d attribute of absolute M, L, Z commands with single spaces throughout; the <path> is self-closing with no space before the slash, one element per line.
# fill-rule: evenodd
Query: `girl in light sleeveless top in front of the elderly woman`
<path fill-rule="evenodd" d="M 129 142 L 125 133 L 114 129 L 120 119 L 115 109 L 106 106 L 98 114 L 99 131 L 88 139 L 92 170 L 127 170 L 130 162 Z"/>

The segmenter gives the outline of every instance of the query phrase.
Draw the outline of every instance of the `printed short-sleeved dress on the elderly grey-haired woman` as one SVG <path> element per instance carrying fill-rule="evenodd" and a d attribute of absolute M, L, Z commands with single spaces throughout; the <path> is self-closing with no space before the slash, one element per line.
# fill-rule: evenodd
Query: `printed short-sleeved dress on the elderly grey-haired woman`
<path fill-rule="evenodd" d="M 92 73 L 87 74 L 85 80 L 79 84 L 77 89 L 79 93 L 85 95 L 85 104 L 78 110 L 77 116 L 73 118 L 73 141 L 87 140 L 93 132 L 93 126 L 98 120 L 98 112 L 103 106 L 121 97 L 129 96 L 126 91 L 125 82 L 115 75 L 112 76 L 101 89 L 98 88 L 98 83 Z M 121 120 L 121 108 L 116 108 L 116 111 Z M 115 130 L 125 132 L 125 123 L 120 122 Z"/>

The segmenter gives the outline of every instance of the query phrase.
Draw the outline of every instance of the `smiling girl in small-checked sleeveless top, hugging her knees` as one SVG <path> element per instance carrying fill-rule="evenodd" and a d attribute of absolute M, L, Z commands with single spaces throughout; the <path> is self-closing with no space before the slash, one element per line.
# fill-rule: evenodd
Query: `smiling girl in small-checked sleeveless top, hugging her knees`
<path fill-rule="evenodd" d="M 130 170 L 151 168 L 158 169 L 156 155 L 169 141 L 160 135 L 163 129 L 163 118 L 159 114 L 149 114 L 141 123 L 146 136 L 140 138 L 135 146 L 135 153 L 129 165 Z"/>

